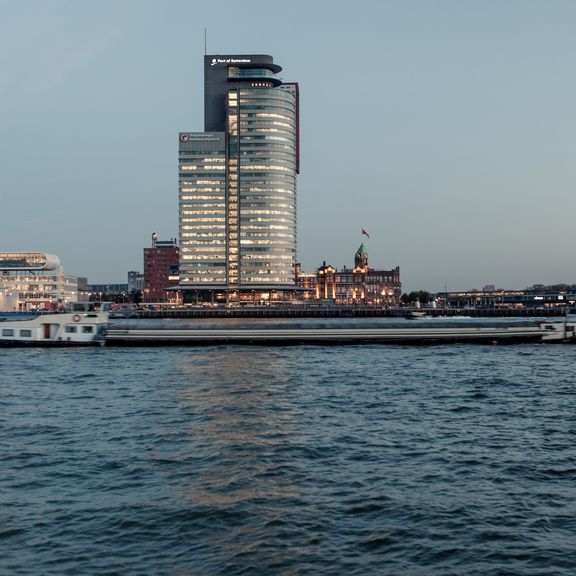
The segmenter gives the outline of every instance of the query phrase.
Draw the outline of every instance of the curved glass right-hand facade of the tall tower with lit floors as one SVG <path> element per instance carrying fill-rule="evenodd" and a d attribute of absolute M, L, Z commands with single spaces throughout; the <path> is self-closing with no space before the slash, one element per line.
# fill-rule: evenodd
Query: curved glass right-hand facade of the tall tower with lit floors
<path fill-rule="evenodd" d="M 239 283 L 293 284 L 296 100 L 291 86 L 239 90 Z M 234 113 L 234 106 L 229 115 Z"/>

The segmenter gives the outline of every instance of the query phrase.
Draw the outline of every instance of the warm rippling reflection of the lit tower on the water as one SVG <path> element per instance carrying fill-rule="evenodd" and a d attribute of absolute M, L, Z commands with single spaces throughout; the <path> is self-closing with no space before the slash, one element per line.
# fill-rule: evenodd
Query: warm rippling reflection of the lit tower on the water
<path fill-rule="evenodd" d="M 213 545 L 226 557 L 241 557 L 261 542 L 278 537 L 280 515 L 289 515 L 306 476 L 302 462 L 278 460 L 275 452 L 304 441 L 301 415 L 294 408 L 290 366 L 279 351 L 220 348 L 183 355 L 178 364 L 185 386 L 179 387 L 182 409 L 194 418 L 182 430 L 188 450 L 202 454 L 200 472 L 181 479 L 175 494 L 185 506 L 220 513 L 243 511 L 244 521 Z M 259 503 L 266 502 L 265 507 Z M 258 508 L 258 510 L 257 510 Z M 284 509 L 284 512 L 283 512 Z M 276 553 L 275 561 L 287 557 Z"/>

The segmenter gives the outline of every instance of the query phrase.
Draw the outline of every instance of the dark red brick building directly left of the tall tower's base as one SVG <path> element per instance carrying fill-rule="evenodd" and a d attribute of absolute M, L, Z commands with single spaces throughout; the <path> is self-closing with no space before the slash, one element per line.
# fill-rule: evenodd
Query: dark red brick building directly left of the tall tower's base
<path fill-rule="evenodd" d="M 175 238 L 158 240 L 152 234 L 152 247 L 144 248 L 143 302 L 168 302 L 175 292 L 166 289 L 178 285 L 179 248 Z"/>

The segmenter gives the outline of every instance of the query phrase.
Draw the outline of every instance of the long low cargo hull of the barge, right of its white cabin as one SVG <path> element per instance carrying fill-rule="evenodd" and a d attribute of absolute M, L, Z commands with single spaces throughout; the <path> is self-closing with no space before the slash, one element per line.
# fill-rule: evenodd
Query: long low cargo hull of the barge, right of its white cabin
<path fill-rule="evenodd" d="M 474 328 L 217 328 L 110 329 L 108 346 L 202 346 L 214 344 L 512 344 L 562 340 L 545 338 L 540 326 Z M 550 334 L 550 336 L 552 336 Z"/>

